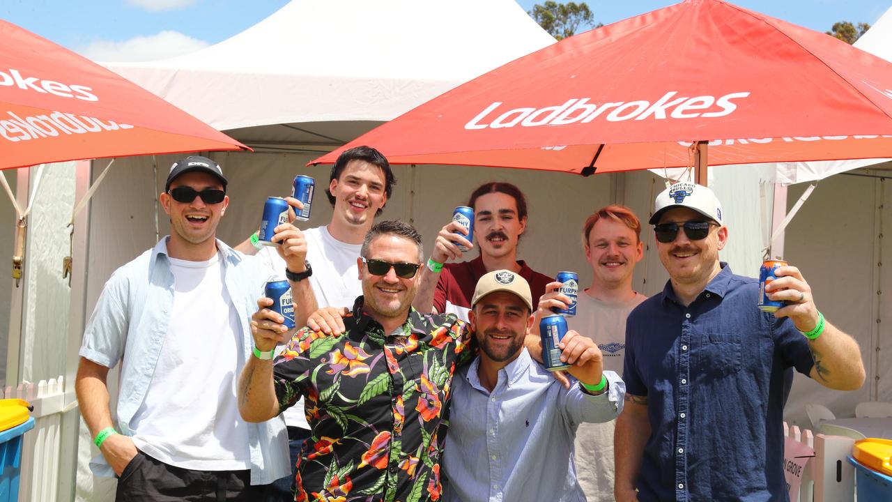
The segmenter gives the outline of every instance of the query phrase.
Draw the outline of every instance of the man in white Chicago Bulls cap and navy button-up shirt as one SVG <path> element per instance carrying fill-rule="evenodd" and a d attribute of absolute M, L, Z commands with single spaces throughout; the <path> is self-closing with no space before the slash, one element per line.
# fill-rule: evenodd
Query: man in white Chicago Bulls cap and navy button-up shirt
<path fill-rule="evenodd" d="M 670 280 L 626 323 L 616 500 L 786 501 L 784 373 L 858 389 L 858 346 L 824 320 L 796 267 L 765 288 L 788 305 L 756 307 L 758 281 L 719 262 L 728 229 L 709 188 L 667 188 L 650 224 Z"/>

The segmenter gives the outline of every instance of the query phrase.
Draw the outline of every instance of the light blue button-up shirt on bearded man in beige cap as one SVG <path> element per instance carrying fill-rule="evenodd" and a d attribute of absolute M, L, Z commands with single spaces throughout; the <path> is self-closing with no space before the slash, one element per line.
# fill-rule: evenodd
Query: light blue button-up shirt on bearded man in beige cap
<path fill-rule="evenodd" d="M 576 481 L 574 437 L 582 422 L 613 420 L 623 407 L 624 384 L 604 372 L 607 392 L 570 389 L 533 361 L 524 348 L 499 370 L 492 392 L 480 383 L 480 358 L 458 370 L 443 466 L 446 500 L 582 501 Z"/>

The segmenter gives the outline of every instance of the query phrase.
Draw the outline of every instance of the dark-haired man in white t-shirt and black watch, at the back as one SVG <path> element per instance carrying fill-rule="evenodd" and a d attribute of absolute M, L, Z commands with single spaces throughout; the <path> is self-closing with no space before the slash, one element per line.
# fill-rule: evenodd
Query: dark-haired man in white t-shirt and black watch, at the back
<path fill-rule="evenodd" d="M 319 307 L 353 305 L 362 295 L 357 267 L 359 250 L 395 183 L 390 163 L 375 148 L 357 146 L 346 150 L 335 161 L 326 190 L 335 207 L 331 222 L 308 230 L 285 223 L 277 227 L 273 237 L 274 242 L 284 242 L 282 246 L 258 249 L 248 239 L 236 247 L 246 255 L 256 253 L 272 273 L 287 277 L 297 326 L 306 325 L 307 317 Z M 288 198 L 288 202 L 302 207 L 293 198 Z M 310 437 L 310 425 L 302 400 L 288 408 L 284 416 L 293 475 L 277 481 L 275 488 L 283 499 L 293 500 L 294 466 L 304 439 Z"/>

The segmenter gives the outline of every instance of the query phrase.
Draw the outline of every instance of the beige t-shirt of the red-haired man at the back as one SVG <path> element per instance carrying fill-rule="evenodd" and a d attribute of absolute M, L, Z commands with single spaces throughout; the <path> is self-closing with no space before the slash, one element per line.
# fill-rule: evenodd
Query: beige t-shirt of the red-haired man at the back
<path fill-rule="evenodd" d="M 598 344 L 604 355 L 604 369 L 623 374 L 625 320 L 647 297 L 640 293 L 627 302 L 610 304 L 580 291 L 576 315 L 567 317 L 567 328 L 576 330 Z M 576 478 L 589 502 L 613 502 L 615 420 L 606 423 L 580 423 L 576 431 Z"/>

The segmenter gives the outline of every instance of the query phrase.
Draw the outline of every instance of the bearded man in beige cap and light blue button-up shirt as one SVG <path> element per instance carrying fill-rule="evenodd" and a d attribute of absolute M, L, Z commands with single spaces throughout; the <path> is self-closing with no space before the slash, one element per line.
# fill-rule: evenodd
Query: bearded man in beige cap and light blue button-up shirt
<path fill-rule="evenodd" d="M 530 286 L 507 270 L 478 282 L 468 314 L 480 355 L 456 374 L 443 464 L 448 502 L 584 501 L 576 481 L 574 436 L 582 422 L 620 413 L 624 383 L 603 371 L 598 346 L 570 330 L 561 359 L 572 364 L 569 389 L 524 348 L 533 315 Z"/>

